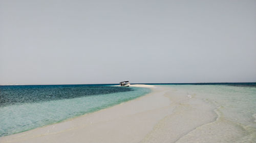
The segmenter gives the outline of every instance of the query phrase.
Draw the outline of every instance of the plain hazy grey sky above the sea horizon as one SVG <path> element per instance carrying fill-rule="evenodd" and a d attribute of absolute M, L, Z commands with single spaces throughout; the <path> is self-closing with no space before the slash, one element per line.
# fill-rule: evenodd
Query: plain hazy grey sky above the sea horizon
<path fill-rule="evenodd" d="M 256 1 L 3 1 L 0 84 L 255 82 Z"/>

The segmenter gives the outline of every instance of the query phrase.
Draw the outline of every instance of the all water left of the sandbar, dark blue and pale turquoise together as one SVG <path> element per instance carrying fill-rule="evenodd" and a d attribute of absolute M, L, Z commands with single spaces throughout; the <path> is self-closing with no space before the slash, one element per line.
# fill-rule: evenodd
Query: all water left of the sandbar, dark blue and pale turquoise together
<path fill-rule="evenodd" d="M 106 85 L 0 86 L 0 136 L 74 118 L 150 91 Z"/>

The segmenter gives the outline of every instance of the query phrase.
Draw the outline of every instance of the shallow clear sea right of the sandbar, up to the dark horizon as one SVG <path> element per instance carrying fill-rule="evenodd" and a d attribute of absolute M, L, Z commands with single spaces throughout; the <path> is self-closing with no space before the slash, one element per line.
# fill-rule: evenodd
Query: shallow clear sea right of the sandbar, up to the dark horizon
<path fill-rule="evenodd" d="M 185 93 L 188 98 L 204 101 L 212 106 L 215 114 L 214 120 L 189 131 L 177 142 L 256 142 L 256 83 L 162 86 Z"/>

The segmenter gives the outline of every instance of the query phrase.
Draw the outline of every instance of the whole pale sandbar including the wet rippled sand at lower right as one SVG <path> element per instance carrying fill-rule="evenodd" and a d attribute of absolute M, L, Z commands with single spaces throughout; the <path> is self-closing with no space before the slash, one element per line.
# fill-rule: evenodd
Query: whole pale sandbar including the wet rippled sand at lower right
<path fill-rule="evenodd" d="M 205 92 L 165 85 L 137 86 L 147 86 L 152 92 L 64 122 L 3 136 L 0 142 L 236 142 L 244 137 L 249 137 L 247 142 L 253 140 L 254 129 L 245 130 L 226 120 L 222 106 L 207 99 Z"/>

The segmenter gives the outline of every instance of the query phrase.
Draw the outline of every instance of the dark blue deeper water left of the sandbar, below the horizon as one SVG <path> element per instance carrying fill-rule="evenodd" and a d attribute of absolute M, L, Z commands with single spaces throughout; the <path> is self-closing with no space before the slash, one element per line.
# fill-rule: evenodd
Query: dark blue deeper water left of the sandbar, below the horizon
<path fill-rule="evenodd" d="M 106 85 L 10 85 L 0 86 L 0 107 L 22 103 L 70 99 L 133 91 Z"/>

